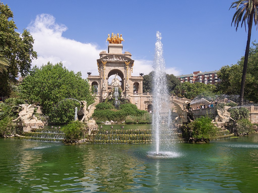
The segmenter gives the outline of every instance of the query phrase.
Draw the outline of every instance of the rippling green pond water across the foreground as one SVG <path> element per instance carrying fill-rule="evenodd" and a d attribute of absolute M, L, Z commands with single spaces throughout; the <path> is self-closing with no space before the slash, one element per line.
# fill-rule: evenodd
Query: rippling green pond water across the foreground
<path fill-rule="evenodd" d="M 257 192 L 258 134 L 174 146 L 1 138 L 0 192 Z"/>

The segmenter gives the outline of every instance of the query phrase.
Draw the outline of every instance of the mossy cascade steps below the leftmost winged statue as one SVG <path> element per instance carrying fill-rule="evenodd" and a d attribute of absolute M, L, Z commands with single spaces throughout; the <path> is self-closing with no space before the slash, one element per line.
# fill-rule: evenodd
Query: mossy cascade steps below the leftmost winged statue
<path fill-rule="evenodd" d="M 18 135 L 20 139 L 28 139 L 35 141 L 47 141 L 47 142 L 63 142 L 65 134 L 59 129 L 34 129 L 33 132 L 26 131 L 22 135 Z"/>

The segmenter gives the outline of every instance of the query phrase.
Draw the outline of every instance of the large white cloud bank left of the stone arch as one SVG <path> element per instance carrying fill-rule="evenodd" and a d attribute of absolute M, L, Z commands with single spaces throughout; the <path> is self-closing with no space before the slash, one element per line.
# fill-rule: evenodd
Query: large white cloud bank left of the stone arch
<path fill-rule="evenodd" d="M 35 39 L 34 50 L 38 54 L 38 59 L 32 62 L 33 66 L 41 66 L 48 61 L 53 64 L 61 61 L 69 70 L 81 71 L 83 78 L 87 77 L 87 72 L 98 74 L 96 59 L 102 50 L 98 50 L 96 45 L 91 43 L 81 43 L 62 37 L 62 33 L 68 28 L 55 23 L 54 16 L 37 15 L 28 29 Z"/>

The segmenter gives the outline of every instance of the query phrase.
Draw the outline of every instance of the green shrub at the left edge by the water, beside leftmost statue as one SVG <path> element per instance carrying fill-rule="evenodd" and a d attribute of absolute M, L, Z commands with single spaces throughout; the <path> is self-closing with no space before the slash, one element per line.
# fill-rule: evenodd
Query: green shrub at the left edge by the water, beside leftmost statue
<path fill-rule="evenodd" d="M 0 136 L 10 135 L 15 133 L 15 124 L 12 118 L 7 116 L 0 120 Z"/>

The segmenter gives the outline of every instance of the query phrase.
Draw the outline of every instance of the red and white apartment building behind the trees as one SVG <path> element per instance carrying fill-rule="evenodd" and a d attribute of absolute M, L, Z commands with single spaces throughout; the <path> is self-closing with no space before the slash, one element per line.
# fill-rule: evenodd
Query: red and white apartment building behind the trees
<path fill-rule="evenodd" d="M 210 72 L 201 72 L 201 71 L 195 71 L 192 74 L 185 74 L 176 76 L 182 83 L 183 82 L 190 82 L 190 83 L 196 83 L 196 82 L 202 82 L 204 84 L 215 84 L 217 82 L 220 82 L 220 79 L 217 76 L 217 70 L 210 71 Z"/>

